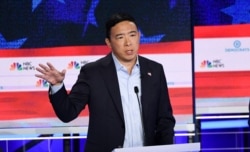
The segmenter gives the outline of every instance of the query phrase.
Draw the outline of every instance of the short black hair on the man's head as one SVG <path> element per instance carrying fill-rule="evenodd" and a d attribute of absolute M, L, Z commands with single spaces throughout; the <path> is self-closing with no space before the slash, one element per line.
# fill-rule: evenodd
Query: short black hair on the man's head
<path fill-rule="evenodd" d="M 126 13 L 113 14 L 106 22 L 106 38 L 110 39 L 111 28 L 115 26 L 117 23 L 120 23 L 122 21 L 131 21 L 135 23 L 136 27 L 138 28 L 135 18 L 131 16 L 130 14 L 126 14 Z"/>

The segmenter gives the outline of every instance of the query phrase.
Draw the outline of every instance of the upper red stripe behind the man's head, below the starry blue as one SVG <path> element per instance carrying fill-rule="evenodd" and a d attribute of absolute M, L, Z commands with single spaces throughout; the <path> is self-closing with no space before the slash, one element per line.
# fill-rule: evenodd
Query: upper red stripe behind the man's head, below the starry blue
<path fill-rule="evenodd" d="M 65 46 L 53 48 L 32 49 L 0 49 L 0 57 L 50 57 L 50 56 L 78 56 L 105 55 L 109 48 L 100 46 Z M 191 53 L 191 41 L 165 42 L 157 44 L 141 44 L 140 53 Z"/>

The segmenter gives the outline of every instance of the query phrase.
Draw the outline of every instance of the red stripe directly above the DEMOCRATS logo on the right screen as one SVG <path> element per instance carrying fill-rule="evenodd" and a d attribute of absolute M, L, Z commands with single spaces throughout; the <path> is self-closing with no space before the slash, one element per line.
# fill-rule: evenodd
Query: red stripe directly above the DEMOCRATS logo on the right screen
<path fill-rule="evenodd" d="M 220 38 L 220 37 L 249 37 L 250 24 L 220 25 L 220 26 L 196 26 L 195 38 Z"/>

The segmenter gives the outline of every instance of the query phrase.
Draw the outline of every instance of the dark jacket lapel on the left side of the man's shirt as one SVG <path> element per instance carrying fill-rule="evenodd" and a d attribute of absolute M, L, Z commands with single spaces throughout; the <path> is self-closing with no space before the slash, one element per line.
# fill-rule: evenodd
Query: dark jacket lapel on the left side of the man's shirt
<path fill-rule="evenodd" d="M 114 103 L 121 119 L 124 122 L 119 82 L 111 53 L 104 58 L 102 63 L 103 68 L 101 69 L 101 74 L 112 98 L 112 102 Z"/>

